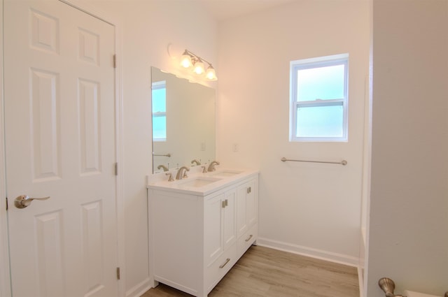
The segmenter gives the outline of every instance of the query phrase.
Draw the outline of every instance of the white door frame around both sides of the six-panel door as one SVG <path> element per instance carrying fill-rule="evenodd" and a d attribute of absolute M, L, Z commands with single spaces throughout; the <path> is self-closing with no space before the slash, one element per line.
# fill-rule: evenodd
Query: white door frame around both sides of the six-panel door
<path fill-rule="evenodd" d="M 83 11 L 88 15 L 97 17 L 111 24 L 115 29 L 115 118 L 116 118 L 116 162 L 118 163 L 118 175 L 116 177 L 116 205 L 117 205 L 117 250 L 118 267 L 120 267 L 120 281 L 118 282 L 118 296 L 125 296 L 125 208 L 123 195 L 123 78 L 121 57 L 123 57 L 122 25 L 116 17 L 98 10 L 85 2 L 78 0 L 59 0 L 73 8 Z M 0 297 L 12 296 L 9 261 L 8 240 L 8 212 L 3 201 L 6 201 L 6 154 L 5 154 L 5 127 L 4 127 L 4 94 L 3 94 L 3 0 L 0 0 Z M 12 205 L 9 198 L 8 205 Z"/>

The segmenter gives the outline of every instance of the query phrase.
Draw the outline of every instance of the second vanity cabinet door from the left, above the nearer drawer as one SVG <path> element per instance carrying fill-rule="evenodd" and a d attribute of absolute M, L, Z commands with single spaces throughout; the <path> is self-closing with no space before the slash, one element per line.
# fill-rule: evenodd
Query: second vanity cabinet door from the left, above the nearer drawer
<path fill-rule="evenodd" d="M 223 205 L 223 236 L 224 236 L 224 249 L 227 249 L 232 245 L 235 240 L 237 240 L 237 232 L 235 228 L 235 201 L 236 201 L 237 191 L 232 189 L 225 192 L 225 198 Z"/>

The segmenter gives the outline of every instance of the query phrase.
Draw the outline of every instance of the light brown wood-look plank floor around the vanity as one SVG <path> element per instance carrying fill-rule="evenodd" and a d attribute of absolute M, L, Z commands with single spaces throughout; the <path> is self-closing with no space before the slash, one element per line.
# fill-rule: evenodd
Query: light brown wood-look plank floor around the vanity
<path fill-rule="evenodd" d="M 142 297 L 188 297 L 165 284 Z M 359 297 L 356 268 L 252 246 L 209 297 Z"/>

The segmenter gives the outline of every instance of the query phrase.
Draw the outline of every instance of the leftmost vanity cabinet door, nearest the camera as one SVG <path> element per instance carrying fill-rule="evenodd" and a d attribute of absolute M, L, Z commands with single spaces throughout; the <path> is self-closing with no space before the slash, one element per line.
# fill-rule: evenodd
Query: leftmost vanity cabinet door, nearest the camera
<path fill-rule="evenodd" d="M 223 203 L 225 194 L 206 197 L 204 205 L 205 263 L 209 264 L 223 253 Z"/>

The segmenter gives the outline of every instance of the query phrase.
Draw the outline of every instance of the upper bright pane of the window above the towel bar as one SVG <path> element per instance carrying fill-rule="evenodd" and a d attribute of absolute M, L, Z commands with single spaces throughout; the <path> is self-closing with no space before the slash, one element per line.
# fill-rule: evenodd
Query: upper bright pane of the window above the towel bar
<path fill-rule="evenodd" d="M 345 65 L 299 69 L 297 101 L 344 98 Z"/>

